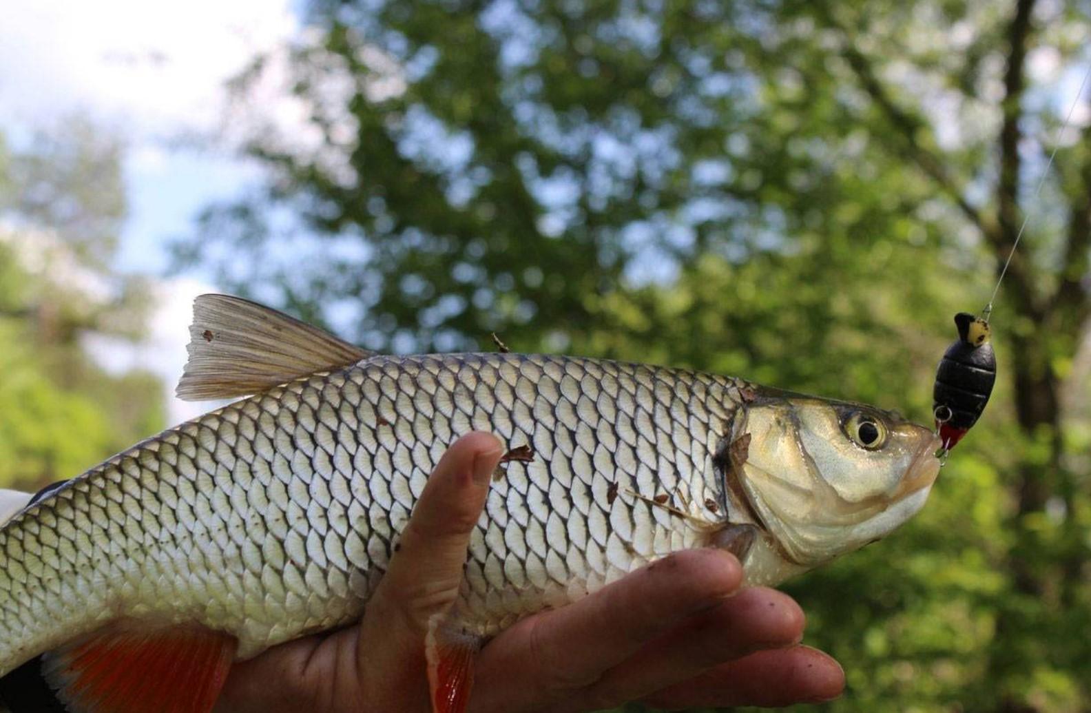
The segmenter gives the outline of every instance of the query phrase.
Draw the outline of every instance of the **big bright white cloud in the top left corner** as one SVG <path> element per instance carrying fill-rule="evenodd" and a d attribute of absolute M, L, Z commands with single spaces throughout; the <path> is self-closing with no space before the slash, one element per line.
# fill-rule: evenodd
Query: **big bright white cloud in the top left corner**
<path fill-rule="evenodd" d="M 141 134 L 208 130 L 223 83 L 298 29 L 284 0 L 36 0 L 4 5 L 0 120 L 74 109 Z"/>

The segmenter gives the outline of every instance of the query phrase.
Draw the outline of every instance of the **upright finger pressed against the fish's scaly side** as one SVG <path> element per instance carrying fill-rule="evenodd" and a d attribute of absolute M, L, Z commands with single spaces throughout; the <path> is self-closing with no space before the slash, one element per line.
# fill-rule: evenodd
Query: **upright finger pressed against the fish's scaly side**
<path fill-rule="evenodd" d="M 429 619 L 458 596 L 470 533 L 502 450 L 491 433 L 468 433 L 429 477 L 360 623 L 358 666 L 375 686 L 411 679 L 419 687 Z"/>

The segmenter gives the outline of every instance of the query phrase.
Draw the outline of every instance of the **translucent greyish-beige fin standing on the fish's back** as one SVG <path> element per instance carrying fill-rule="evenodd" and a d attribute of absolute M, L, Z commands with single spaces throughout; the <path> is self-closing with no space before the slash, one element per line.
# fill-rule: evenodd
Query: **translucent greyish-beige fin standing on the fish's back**
<path fill-rule="evenodd" d="M 193 301 L 190 354 L 176 393 L 184 401 L 245 396 L 373 356 L 284 312 L 241 297 Z"/>

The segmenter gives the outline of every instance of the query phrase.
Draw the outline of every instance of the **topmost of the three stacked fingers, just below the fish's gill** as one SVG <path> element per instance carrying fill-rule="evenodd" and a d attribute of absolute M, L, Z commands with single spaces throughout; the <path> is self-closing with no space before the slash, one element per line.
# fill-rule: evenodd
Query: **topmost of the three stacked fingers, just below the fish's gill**
<path fill-rule="evenodd" d="M 741 583 L 733 556 L 694 549 L 525 619 L 481 652 L 471 709 L 532 709 L 571 696 L 693 613 L 720 604 Z"/>

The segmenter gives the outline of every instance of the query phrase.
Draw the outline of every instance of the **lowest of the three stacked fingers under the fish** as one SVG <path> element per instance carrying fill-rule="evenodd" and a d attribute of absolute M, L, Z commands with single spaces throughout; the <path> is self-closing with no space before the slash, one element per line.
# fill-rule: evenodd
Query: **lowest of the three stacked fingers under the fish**
<path fill-rule="evenodd" d="M 810 646 L 767 650 L 722 664 L 687 681 L 642 699 L 652 708 L 679 710 L 793 703 L 818 703 L 837 698 L 844 672 L 827 654 Z"/>

